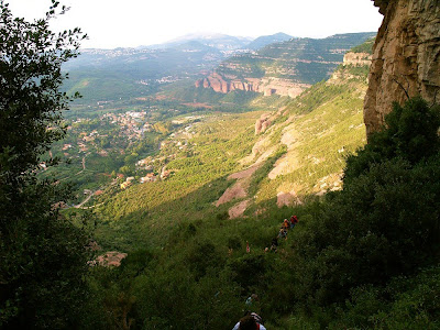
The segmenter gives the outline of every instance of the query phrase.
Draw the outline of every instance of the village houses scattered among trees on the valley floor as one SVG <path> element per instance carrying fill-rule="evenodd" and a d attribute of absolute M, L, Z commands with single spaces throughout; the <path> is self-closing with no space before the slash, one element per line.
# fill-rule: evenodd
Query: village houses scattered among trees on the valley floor
<path fill-rule="evenodd" d="M 160 148 L 164 153 L 168 153 L 168 155 L 155 158 L 146 157 L 136 162 L 136 172 L 144 173 L 145 175 L 142 177 L 130 176 L 127 178 L 122 174 L 118 175 L 120 188 L 127 189 L 134 183 L 145 184 L 169 178 L 169 176 L 173 175 L 173 170 L 166 169 L 165 164 L 167 161 L 175 158 L 178 151 L 185 152 L 190 148 L 191 145 L 188 143 L 188 139 L 194 136 L 195 123 L 198 122 L 200 118 L 201 117 L 191 116 L 173 121 L 173 124 L 184 125 L 179 131 L 173 132 L 167 140 L 160 143 Z M 124 113 L 108 112 L 101 114 L 99 120 L 77 119 L 68 127 L 68 130 L 73 133 L 73 136 L 75 136 L 75 142 L 73 142 L 73 140 L 68 141 L 68 143 L 62 146 L 62 151 L 65 156 L 69 157 L 81 157 L 81 152 L 96 152 L 101 156 L 108 156 L 108 148 L 110 147 L 109 142 L 111 141 L 111 145 L 117 146 L 122 154 L 125 143 L 140 140 L 145 132 L 154 130 L 147 119 L 148 112 L 146 111 L 127 111 Z M 110 130 L 107 132 L 106 125 L 110 125 L 113 132 L 114 127 L 117 127 L 119 129 L 117 130 L 117 135 L 108 133 Z M 87 130 L 87 128 L 90 129 Z M 114 141 L 114 139 L 122 139 L 122 141 Z M 82 167 L 86 168 L 84 156 Z M 45 169 L 44 163 L 42 164 L 42 169 Z"/>

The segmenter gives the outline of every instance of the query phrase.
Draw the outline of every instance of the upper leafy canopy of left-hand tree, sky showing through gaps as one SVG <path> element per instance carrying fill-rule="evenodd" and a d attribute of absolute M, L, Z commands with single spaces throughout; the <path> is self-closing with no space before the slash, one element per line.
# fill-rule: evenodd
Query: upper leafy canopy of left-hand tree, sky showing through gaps
<path fill-rule="evenodd" d="M 61 111 L 72 99 L 59 87 L 62 64 L 78 55 L 86 37 L 78 28 L 50 30 L 59 2 L 33 22 L 14 18 L 0 1 L 0 170 L 16 176 L 33 168 L 52 142 L 65 134 Z M 59 14 L 67 10 L 63 6 Z"/>

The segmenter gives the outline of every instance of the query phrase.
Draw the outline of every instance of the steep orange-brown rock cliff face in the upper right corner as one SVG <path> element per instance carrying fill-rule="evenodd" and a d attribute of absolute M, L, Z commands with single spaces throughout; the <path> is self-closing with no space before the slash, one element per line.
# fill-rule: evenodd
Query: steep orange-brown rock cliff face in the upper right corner
<path fill-rule="evenodd" d="M 374 45 L 364 103 L 367 135 L 384 123 L 393 101 L 421 95 L 440 100 L 439 0 L 372 0 L 384 14 Z M 437 97 L 437 99 L 436 99 Z"/>

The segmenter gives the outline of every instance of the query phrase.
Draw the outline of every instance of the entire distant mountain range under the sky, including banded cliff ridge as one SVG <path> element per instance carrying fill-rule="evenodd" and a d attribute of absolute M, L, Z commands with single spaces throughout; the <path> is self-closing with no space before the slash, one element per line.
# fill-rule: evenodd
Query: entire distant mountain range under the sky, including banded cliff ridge
<path fill-rule="evenodd" d="M 64 87 L 79 91 L 84 101 L 128 99 L 152 95 L 164 84 L 184 79 L 194 84 L 205 76 L 196 86 L 295 97 L 328 78 L 348 50 L 374 35 L 315 40 L 276 33 L 252 40 L 197 34 L 148 47 L 81 50 L 78 58 L 64 66 L 70 76 Z"/>

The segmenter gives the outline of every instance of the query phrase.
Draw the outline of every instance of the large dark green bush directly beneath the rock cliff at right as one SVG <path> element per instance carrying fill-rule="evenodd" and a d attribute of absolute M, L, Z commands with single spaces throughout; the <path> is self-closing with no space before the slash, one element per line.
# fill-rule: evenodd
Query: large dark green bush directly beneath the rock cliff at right
<path fill-rule="evenodd" d="M 387 129 L 349 158 L 343 190 L 328 197 L 294 242 L 299 299 L 328 306 L 346 299 L 354 287 L 385 285 L 435 261 L 440 238 L 436 111 L 419 98 L 395 105 Z"/>

